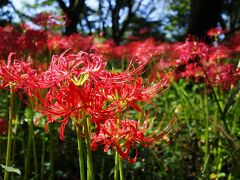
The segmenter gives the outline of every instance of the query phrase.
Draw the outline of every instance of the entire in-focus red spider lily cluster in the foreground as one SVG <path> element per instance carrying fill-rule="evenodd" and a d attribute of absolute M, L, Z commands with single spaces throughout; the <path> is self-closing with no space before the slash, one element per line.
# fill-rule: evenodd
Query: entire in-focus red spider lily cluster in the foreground
<path fill-rule="evenodd" d="M 137 121 L 122 119 L 130 108 L 143 113 L 137 103 L 151 103 L 154 95 L 167 86 L 166 77 L 155 84 L 144 84 L 139 75 L 146 64 L 132 63 L 124 72 L 111 72 L 106 70 L 106 62 L 99 53 L 65 52 L 53 56 L 47 70 L 38 71 L 30 62 L 12 62 L 13 55 L 9 56 L 7 64 L 0 64 L 2 84 L 19 89 L 20 97 L 20 92 L 28 96 L 27 102 L 22 99 L 41 113 L 35 123 L 42 116 L 47 117 L 46 130 L 50 123 L 61 123 L 62 140 L 69 119 L 89 117 L 96 127 L 92 146 L 96 148 L 99 143 L 106 145 L 110 138 L 113 141 L 108 145 L 113 146 L 124 159 L 128 159 L 130 147 L 135 143 L 149 144 L 154 141 L 154 137 L 145 137 L 145 130 L 139 127 Z M 142 56 L 139 59 L 147 62 L 146 58 Z M 81 120 L 77 123 L 81 125 Z M 105 139 L 103 133 L 108 134 Z M 124 144 L 123 139 L 126 141 Z"/>

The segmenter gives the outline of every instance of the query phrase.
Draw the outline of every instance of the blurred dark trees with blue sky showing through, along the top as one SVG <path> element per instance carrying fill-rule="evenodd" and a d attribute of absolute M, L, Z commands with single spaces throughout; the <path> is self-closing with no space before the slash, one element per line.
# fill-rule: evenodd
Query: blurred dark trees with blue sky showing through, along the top
<path fill-rule="evenodd" d="M 65 15 L 62 32 L 102 34 L 119 44 L 130 35 L 161 40 L 180 40 L 186 34 L 206 39 L 211 28 L 221 27 L 234 32 L 240 27 L 238 0 L 35 0 L 25 3 L 27 11 L 39 8 Z M 14 12 L 14 13 L 13 13 Z M 0 1 L 0 24 L 12 23 L 14 16 L 21 21 L 31 19 L 12 0 Z"/>

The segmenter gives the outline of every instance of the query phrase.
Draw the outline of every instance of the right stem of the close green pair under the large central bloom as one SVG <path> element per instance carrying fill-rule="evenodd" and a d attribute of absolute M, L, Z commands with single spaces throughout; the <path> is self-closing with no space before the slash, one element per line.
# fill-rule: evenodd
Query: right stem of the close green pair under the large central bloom
<path fill-rule="evenodd" d="M 88 179 L 94 180 L 94 172 L 93 172 L 93 163 L 92 163 L 92 153 L 90 149 L 90 135 L 89 135 L 89 122 L 88 118 L 84 119 L 84 132 L 85 132 L 85 140 L 86 140 L 86 148 L 87 148 L 87 170 L 88 170 Z"/>

